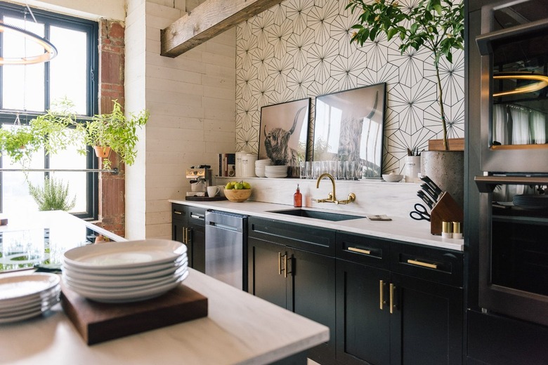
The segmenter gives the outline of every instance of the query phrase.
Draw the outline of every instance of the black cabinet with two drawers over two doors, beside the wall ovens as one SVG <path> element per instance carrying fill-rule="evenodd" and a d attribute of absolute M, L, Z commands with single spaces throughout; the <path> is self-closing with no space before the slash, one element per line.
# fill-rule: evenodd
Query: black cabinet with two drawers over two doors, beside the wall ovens
<path fill-rule="evenodd" d="M 461 253 L 338 232 L 337 257 L 337 361 L 462 364 Z"/>

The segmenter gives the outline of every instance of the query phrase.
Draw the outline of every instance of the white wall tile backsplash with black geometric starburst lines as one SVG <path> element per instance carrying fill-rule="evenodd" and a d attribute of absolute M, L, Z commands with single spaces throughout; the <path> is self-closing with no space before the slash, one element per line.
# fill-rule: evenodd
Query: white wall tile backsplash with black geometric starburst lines
<path fill-rule="evenodd" d="M 400 0 L 412 6 L 415 0 Z M 347 1 L 287 0 L 236 29 L 236 151 L 257 152 L 261 107 L 386 82 L 383 171 L 403 171 L 407 148 L 442 138 L 436 74 L 429 51 L 403 55 L 384 34 L 350 43 L 357 13 Z M 464 53 L 440 62 L 449 138 L 464 137 Z"/>

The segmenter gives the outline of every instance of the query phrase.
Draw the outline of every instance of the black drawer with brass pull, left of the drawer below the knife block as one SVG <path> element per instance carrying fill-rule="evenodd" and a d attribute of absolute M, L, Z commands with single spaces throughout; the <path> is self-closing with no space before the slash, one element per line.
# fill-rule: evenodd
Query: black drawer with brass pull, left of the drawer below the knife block
<path fill-rule="evenodd" d="M 388 269 L 390 242 L 359 234 L 337 232 L 337 258 Z"/>

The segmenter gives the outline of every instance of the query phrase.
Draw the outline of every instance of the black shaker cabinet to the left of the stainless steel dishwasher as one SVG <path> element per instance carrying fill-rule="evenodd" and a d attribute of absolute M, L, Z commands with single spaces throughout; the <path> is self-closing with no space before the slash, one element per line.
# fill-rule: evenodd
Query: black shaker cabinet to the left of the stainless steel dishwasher
<path fill-rule="evenodd" d="M 188 266 L 205 272 L 205 209 L 171 204 L 171 239 L 187 246 Z"/>

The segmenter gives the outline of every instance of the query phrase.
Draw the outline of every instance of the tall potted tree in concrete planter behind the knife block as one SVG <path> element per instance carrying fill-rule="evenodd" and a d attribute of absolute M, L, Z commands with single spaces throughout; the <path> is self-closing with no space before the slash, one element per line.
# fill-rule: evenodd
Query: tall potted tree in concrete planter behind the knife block
<path fill-rule="evenodd" d="M 464 49 L 463 3 L 458 0 L 420 0 L 412 8 L 406 8 L 397 0 L 350 0 L 346 6 L 352 12 L 362 11 L 359 23 L 352 27 L 355 29 L 352 41 L 363 45 L 367 40 L 374 41 L 377 34 L 385 33 L 388 40 L 398 36 L 402 54 L 408 48 L 417 51 L 426 48 L 431 52 L 438 86 L 443 151 L 422 152 L 421 173 L 429 175 L 461 205 L 464 201 L 464 153 L 447 153 L 449 143 L 439 63 L 442 58 L 452 62 L 452 52 Z"/>

